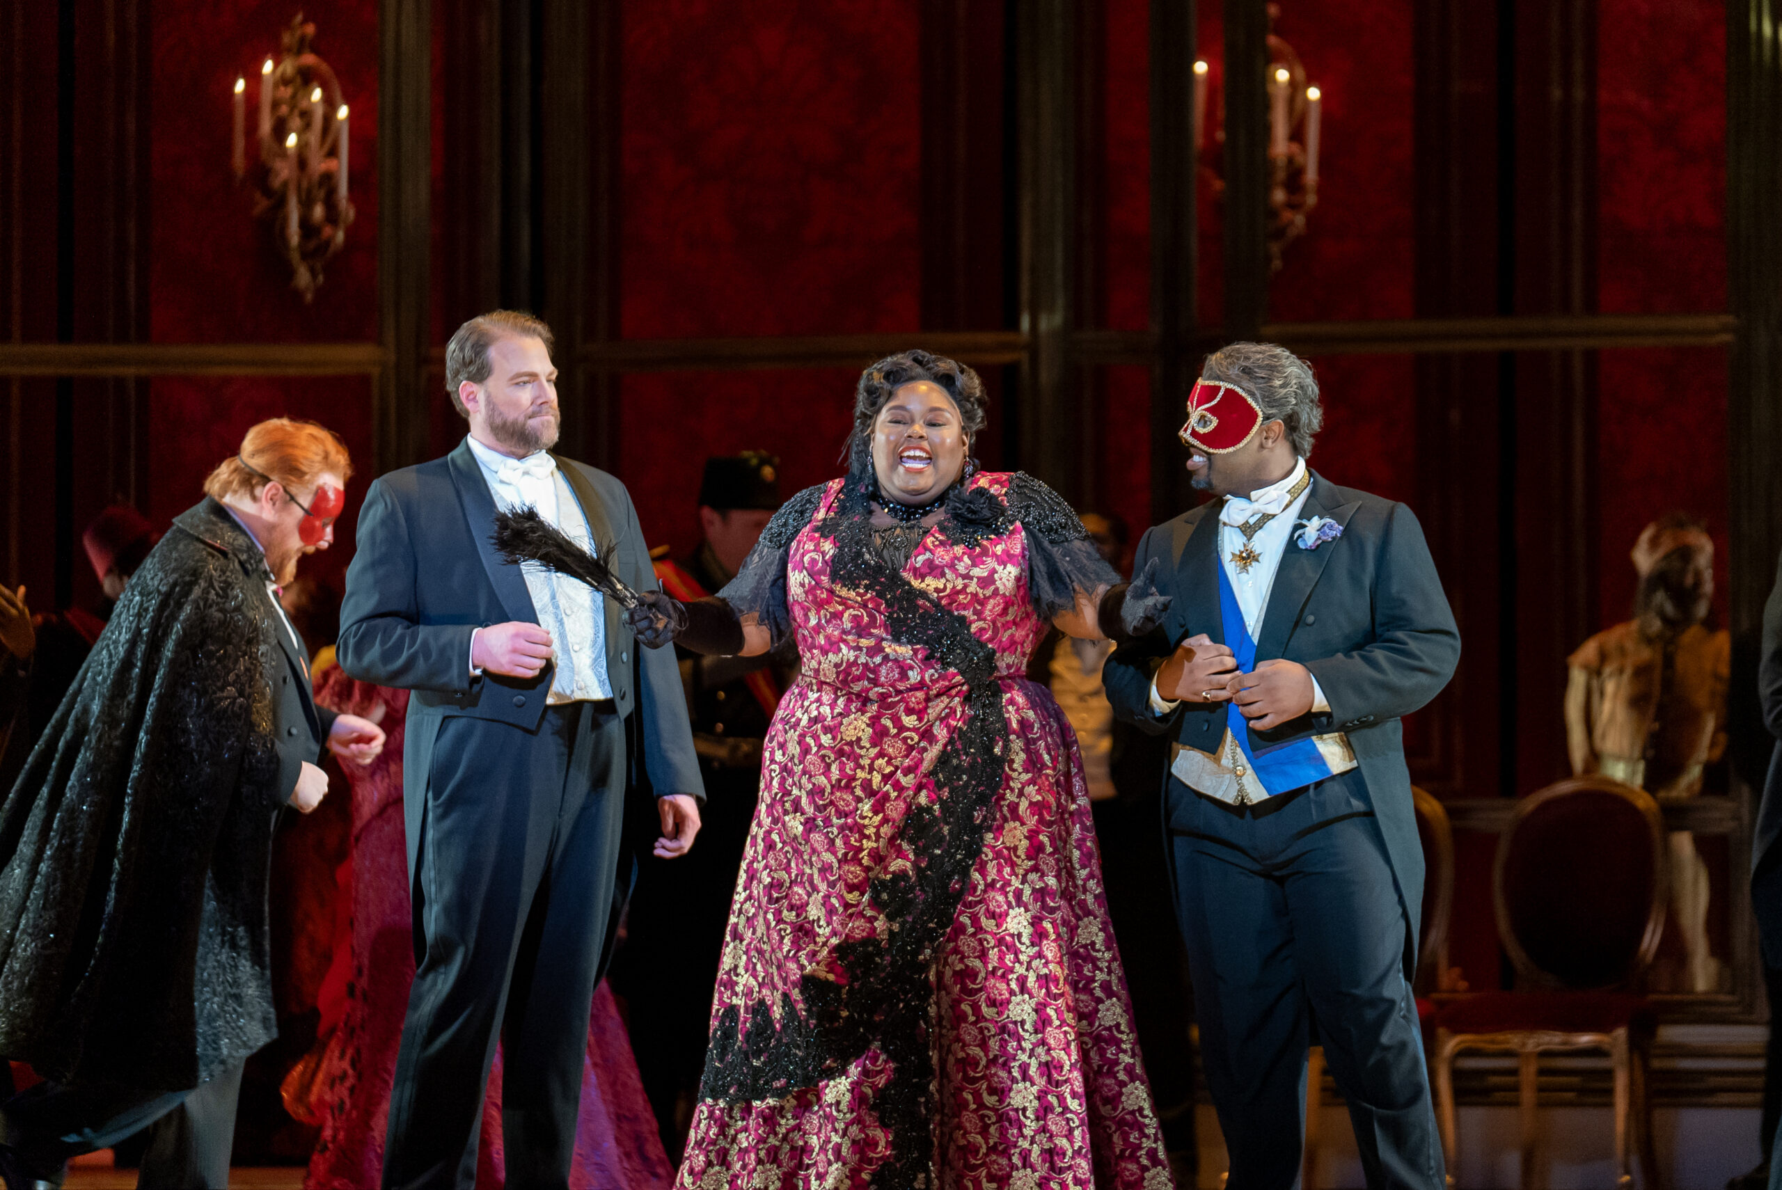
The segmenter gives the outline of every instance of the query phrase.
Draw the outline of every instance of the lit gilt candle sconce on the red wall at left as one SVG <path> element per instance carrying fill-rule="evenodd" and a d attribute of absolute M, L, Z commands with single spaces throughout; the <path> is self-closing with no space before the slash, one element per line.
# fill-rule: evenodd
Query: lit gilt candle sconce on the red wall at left
<path fill-rule="evenodd" d="M 298 12 L 282 37 L 282 57 L 260 64 L 258 162 L 248 171 L 248 80 L 235 80 L 237 185 L 253 182 L 253 214 L 290 262 L 290 287 L 315 301 L 323 265 L 346 244 L 347 105 L 333 69 L 315 55 L 315 25 Z"/>

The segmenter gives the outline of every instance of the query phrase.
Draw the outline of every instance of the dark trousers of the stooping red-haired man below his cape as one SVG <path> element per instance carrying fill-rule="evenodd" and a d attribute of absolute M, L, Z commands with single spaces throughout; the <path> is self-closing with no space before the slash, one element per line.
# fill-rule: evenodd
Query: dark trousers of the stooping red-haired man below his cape
<path fill-rule="evenodd" d="M 59 1181 L 69 1158 L 109 1149 L 148 1128 L 137 1186 L 225 1190 L 242 1065 L 233 1062 L 194 1090 L 176 1092 L 37 1083 L 5 1104 L 5 1142 L 39 1176 Z"/>

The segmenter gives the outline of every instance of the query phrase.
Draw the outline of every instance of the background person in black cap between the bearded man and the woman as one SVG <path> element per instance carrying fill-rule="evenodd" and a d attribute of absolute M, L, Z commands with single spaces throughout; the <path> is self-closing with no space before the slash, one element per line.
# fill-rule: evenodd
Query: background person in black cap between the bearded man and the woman
<path fill-rule="evenodd" d="M 781 504 L 777 458 L 745 451 L 706 460 L 699 485 L 704 538 L 679 563 L 656 561 L 663 591 L 691 602 L 723 590 Z M 627 1001 L 631 1047 L 663 1145 L 679 1160 L 706 1071 L 706 1028 L 731 892 L 756 816 L 761 741 L 786 688 L 786 663 L 795 663 L 797 652 L 788 641 L 784 652 L 761 657 L 704 657 L 681 647 L 675 657 L 706 777 L 699 848 L 674 862 L 652 855 L 638 860 L 613 987 Z"/>

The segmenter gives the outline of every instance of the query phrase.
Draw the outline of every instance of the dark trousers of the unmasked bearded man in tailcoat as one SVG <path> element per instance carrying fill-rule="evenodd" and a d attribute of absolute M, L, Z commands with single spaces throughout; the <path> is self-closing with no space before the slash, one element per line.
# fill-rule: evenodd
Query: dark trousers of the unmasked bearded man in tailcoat
<path fill-rule="evenodd" d="M 536 732 L 438 727 L 410 871 L 415 983 L 385 1186 L 476 1185 L 497 1040 L 506 1185 L 568 1185 L 624 825 L 625 741 L 609 705 L 549 707 Z"/>

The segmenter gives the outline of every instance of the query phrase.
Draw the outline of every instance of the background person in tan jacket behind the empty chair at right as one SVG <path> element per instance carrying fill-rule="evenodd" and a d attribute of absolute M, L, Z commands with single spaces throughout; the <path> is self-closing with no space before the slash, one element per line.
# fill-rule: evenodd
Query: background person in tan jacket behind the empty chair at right
<path fill-rule="evenodd" d="M 1597 632 L 1568 661 L 1566 746 L 1574 773 L 1682 802 L 1702 793 L 1702 770 L 1727 750 L 1732 641 L 1702 624 L 1714 606 L 1714 540 L 1702 522 L 1672 513 L 1645 527 L 1632 559 L 1634 618 Z M 1661 950 L 1652 987 L 1713 992 L 1720 960 L 1707 937 L 1707 862 L 1693 832 L 1668 837 L 1672 937 L 1684 953 Z"/>

